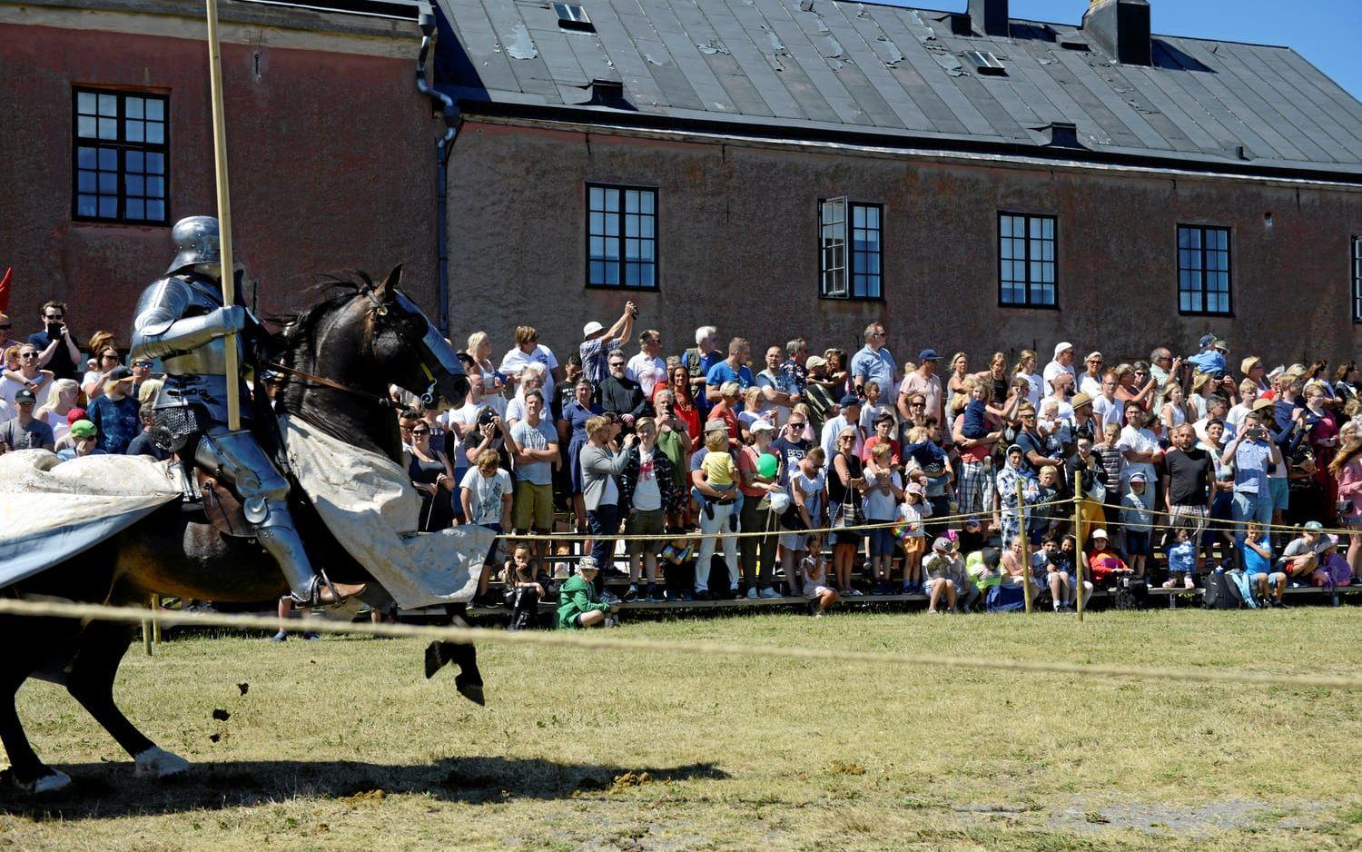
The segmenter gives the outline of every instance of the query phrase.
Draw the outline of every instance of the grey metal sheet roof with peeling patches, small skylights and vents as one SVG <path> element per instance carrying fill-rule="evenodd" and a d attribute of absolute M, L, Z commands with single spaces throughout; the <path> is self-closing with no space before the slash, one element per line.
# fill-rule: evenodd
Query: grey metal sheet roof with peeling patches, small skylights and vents
<path fill-rule="evenodd" d="M 1075 25 L 990 37 L 964 14 L 873 3 L 579 0 L 595 31 L 560 27 L 548 1 L 437 5 L 437 83 L 464 105 L 1362 176 L 1362 104 L 1290 48 L 1155 34 L 1152 64 L 1126 65 Z"/>

